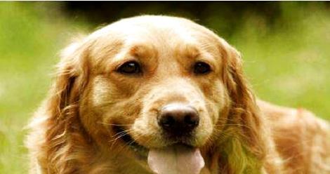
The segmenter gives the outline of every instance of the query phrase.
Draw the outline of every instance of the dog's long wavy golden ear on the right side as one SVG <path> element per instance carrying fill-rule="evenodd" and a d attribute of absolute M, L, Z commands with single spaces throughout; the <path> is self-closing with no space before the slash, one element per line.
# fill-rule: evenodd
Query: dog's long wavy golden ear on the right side
<path fill-rule="evenodd" d="M 227 152 L 228 159 L 225 161 L 230 161 L 227 168 L 231 168 L 226 170 L 257 170 L 260 166 L 253 161 L 262 161 L 265 156 L 261 115 L 249 83 L 244 78 L 241 55 L 223 39 L 220 39 L 220 45 L 223 55 L 222 79 L 231 102 L 227 125 L 234 125 L 225 130 L 230 135 L 227 143 L 227 151 L 230 152 Z M 235 156 L 241 159 L 235 159 Z"/>

